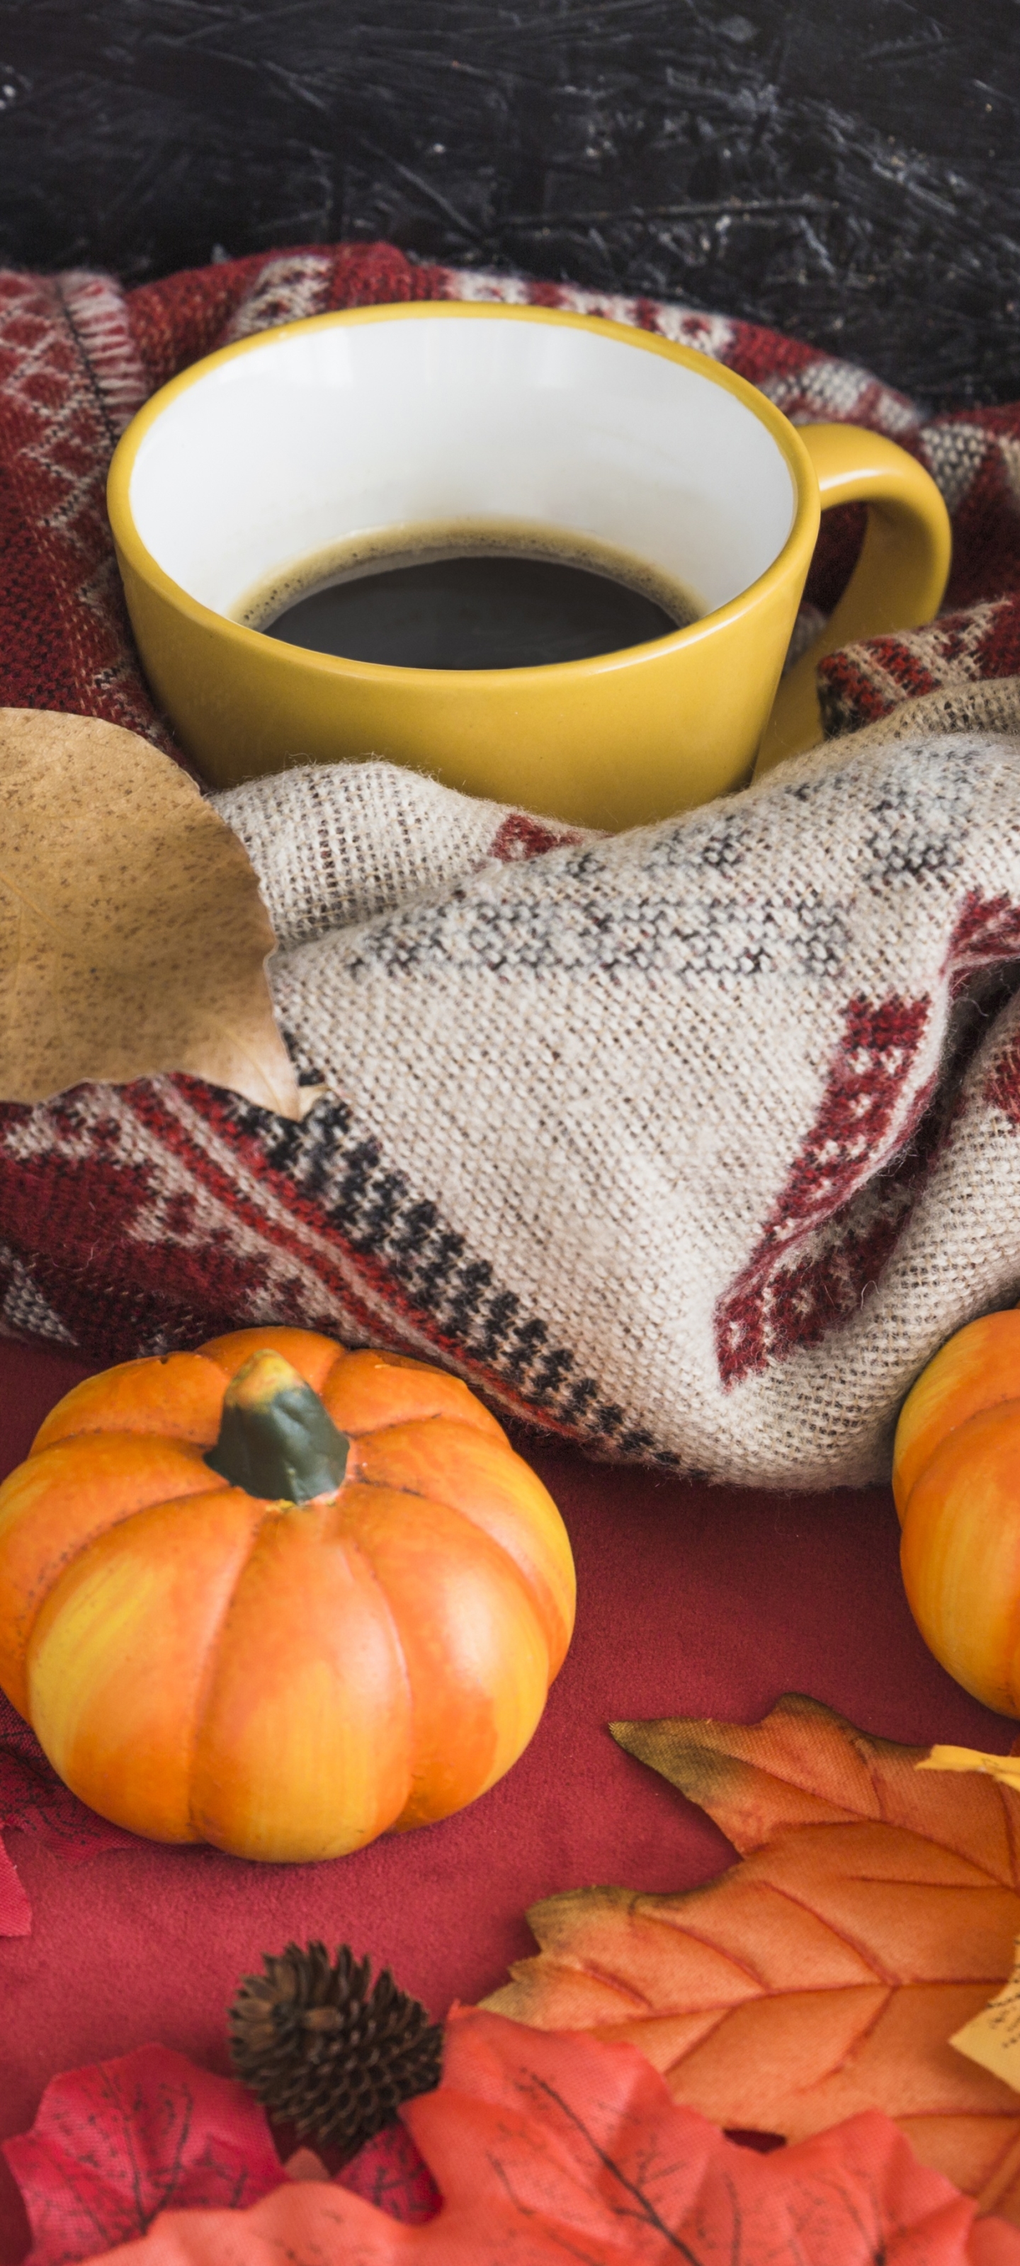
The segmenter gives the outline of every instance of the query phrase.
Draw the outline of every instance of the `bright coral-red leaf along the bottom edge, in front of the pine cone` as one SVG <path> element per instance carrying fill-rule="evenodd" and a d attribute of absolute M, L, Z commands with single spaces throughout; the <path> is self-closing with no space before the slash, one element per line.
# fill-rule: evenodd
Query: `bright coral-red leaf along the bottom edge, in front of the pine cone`
<path fill-rule="evenodd" d="M 335 2184 L 175 2209 L 116 2266 L 1020 2266 L 877 2112 L 775 2155 L 675 2107 L 635 2046 L 456 2012 L 403 2116 L 442 2209 L 399 2225 Z"/>

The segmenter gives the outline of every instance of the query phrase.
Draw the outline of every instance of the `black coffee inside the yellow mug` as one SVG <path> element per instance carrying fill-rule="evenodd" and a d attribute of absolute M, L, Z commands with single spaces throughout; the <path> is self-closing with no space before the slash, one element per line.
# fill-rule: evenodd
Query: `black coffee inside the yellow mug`
<path fill-rule="evenodd" d="M 290 646 L 390 668 L 537 668 L 669 637 L 655 598 L 544 557 L 440 557 L 297 598 L 267 628 Z"/>

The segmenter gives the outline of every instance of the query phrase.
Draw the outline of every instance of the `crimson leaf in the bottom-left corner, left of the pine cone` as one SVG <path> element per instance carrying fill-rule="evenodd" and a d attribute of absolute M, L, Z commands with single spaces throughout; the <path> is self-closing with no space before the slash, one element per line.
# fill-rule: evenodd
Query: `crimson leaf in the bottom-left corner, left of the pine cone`
<path fill-rule="evenodd" d="M 286 2178 L 252 2094 L 165 2046 L 54 2078 L 5 2155 L 32 2225 L 27 2266 L 95 2257 L 172 2207 L 240 2209 Z"/>

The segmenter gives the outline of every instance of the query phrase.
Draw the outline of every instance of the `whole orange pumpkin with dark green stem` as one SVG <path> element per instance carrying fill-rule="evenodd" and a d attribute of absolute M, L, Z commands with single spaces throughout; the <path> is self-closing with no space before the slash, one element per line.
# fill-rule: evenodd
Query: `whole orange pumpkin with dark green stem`
<path fill-rule="evenodd" d="M 88 1378 L 0 1486 L 0 1684 L 154 1840 L 326 1858 L 447 1817 L 571 1629 L 555 1502 L 467 1385 L 311 1330 Z"/>

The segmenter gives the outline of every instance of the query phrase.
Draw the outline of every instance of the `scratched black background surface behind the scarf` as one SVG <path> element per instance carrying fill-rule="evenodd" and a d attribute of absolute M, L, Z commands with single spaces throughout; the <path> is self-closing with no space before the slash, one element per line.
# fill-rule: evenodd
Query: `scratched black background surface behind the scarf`
<path fill-rule="evenodd" d="M 0 256 L 390 236 L 1020 394 L 1020 0 L 5 0 Z"/>

